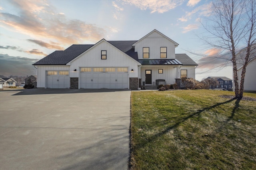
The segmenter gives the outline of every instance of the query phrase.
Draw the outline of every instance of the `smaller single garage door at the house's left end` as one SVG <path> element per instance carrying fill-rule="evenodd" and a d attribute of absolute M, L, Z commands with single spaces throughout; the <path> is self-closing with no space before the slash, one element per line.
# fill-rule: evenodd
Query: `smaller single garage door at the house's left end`
<path fill-rule="evenodd" d="M 70 78 L 68 71 L 47 71 L 47 88 L 69 88 Z"/>

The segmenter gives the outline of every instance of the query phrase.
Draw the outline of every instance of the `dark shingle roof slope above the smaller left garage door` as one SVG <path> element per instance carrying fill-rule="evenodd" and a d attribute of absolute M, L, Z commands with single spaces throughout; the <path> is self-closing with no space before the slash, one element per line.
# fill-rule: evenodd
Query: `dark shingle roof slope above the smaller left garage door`
<path fill-rule="evenodd" d="M 33 65 L 65 65 L 93 45 L 71 45 L 64 51 L 54 51 Z"/>

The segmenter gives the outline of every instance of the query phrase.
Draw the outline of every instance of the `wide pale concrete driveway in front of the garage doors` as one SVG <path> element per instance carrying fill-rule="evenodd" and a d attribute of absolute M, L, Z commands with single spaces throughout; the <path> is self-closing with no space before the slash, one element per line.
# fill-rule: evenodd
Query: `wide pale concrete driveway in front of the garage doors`
<path fill-rule="evenodd" d="M 0 91 L 0 169 L 126 170 L 130 93 Z"/>

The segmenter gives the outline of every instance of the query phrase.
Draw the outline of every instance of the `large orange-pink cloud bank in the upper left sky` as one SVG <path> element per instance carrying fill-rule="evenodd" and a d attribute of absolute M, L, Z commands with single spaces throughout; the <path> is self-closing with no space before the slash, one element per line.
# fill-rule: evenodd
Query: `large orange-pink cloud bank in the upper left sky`
<path fill-rule="evenodd" d="M 59 44 L 70 45 L 83 41 L 97 42 L 106 30 L 81 20 L 69 20 L 57 13 L 46 1 L 12 1 L 18 15 L 1 13 L 2 26 L 38 38 L 48 38 Z M 49 47 L 49 46 L 48 46 Z"/>

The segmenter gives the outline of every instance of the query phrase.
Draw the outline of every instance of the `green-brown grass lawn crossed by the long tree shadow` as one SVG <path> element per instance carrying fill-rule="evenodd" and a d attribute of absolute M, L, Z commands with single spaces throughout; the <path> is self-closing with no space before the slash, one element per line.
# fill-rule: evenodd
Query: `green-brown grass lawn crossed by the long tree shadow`
<path fill-rule="evenodd" d="M 132 92 L 130 169 L 256 169 L 256 102 L 220 95 Z"/>

